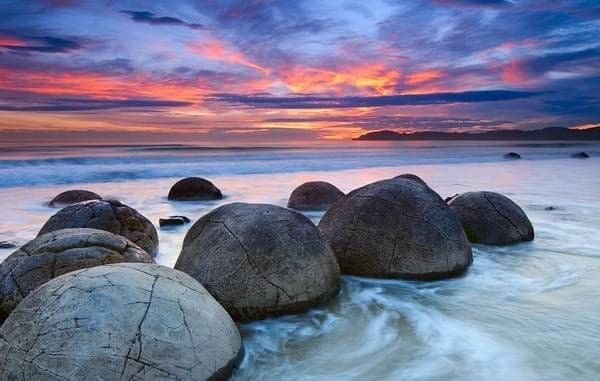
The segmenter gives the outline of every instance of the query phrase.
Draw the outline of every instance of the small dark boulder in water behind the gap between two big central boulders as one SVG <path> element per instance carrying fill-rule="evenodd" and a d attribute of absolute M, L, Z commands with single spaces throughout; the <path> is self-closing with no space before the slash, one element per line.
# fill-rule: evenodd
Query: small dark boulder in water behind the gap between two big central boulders
<path fill-rule="evenodd" d="M 325 210 L 344 197 L 344 192 L 325 181 L 309 181 L 298 186 L 288 200 L 288 208 Z"/>

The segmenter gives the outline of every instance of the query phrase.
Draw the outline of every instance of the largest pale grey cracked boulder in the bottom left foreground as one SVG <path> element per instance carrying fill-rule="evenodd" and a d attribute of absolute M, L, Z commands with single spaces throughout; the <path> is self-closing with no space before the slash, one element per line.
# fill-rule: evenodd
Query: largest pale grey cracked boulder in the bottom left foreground
<path fill-rule="evenodd" d="M 0 328 L 3 380 L 221 380 L 242 356 L 235 323 L 202 285 L 153 264 L 57 277 Z"/>

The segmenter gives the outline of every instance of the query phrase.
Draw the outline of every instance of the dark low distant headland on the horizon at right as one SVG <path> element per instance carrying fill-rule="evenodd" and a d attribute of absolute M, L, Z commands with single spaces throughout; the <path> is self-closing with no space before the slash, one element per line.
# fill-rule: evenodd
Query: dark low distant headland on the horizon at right
<path fill-rule="evenodd" d="M 487 132 L 369 132 L 352 140 L 600 140 L 600 126 L 587 129 L 548 127 L 538 130 L 496 130 Z"/>

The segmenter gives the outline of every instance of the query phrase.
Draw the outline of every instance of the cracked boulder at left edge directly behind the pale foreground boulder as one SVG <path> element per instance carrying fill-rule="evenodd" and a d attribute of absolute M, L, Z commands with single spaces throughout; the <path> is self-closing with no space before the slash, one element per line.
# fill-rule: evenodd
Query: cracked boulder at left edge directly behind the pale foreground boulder
<path fill-rule="evenodd" d="M 119 262 L 152 263 L 128 239 L 96 229 L 62 229 L 25 244 L 0 263 L 0 321 L 31 291 L 71 271 Z"/>

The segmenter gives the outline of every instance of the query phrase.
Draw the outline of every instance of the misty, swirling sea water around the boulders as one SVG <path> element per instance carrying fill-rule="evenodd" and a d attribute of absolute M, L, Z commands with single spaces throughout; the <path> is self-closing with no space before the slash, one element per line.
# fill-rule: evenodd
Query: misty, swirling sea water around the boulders
<path fill-rule="evenodd" d="M 502 155 L 519 152 L 522 160 Z M 588 160 L 570 158 L 578 151 Z M 234 201 L 285 206 L 297 185 L 350 191 L 412 172 L 442 197 L 488 190 L 523 207 L 533 242 L 474 245 L 465 276 L 437 282 L 343 277 L 339 297 L 305 314 L 240 326 L 237 380 L 600 379 L 600 145 L 577 142 L 353 142 L 340 146 L 13 147 L 0 151 L 0 241 L 34 238 L 73 188 L 117 198 L 158 225 Z M 185 176 L 225 198 L 171 202 Z M 551 210 L 548 210 L 547 208 Z M 321 213 L 309 213 L 318 223 Z M 173 266 L 190 225 L 160 230 Z M 3 259 L 12 250 L 0 250 Z"/>

